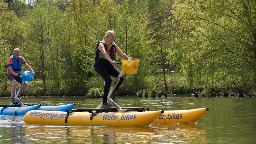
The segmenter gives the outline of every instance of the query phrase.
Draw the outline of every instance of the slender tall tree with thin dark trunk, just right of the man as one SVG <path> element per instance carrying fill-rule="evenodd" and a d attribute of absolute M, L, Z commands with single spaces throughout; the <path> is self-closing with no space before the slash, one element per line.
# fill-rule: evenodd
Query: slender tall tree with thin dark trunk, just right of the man
<path fill-rule="evenodd" d="M 47 4 L 46 4 L 47 5 Z M 49 9 L 44 6 L 44 4 L 38 4 L 32 8 L 29 12 L 28 18 L 28 28 L 26 37 L 27 50 L 33 55 L 30 56 L 30 60 L 34 63 L 36 71 L 38 71 L 37 75 L 40 75 L 43 81 L 43 92 L 46 92 L 46 76 L 49 70 L 47 57 L 49 54 L 49 23 L 51 22 Z"/>

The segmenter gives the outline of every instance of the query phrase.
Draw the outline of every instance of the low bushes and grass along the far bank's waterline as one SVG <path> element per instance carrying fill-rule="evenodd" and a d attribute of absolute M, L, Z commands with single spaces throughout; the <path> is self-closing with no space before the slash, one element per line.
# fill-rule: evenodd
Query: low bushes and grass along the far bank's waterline
<path fill-rule="evenodd" d="M 161 74 L 157 74 L 159 77 L 161 77 Z M 204 87 L 197 87 L 193 88 L 192 90 L 189 89 L 189 87 L 186 87 L 186 78 L 184 78 L 184 74 L 173 74 L 166 75 L 168 79 L 172 79 L 172 82 L 175 81 L 176 83 L 168 83 L 168 91 L 164 89 L 164 87 L 157 86 L 153 83 L 146 83 L 145 86 L 149 88 L 138 88 L 133 87 L 130 89 L 131 82 L 129 82 L 129 76 L 126 76 L 128 80 L 124 80 L 124 84 L 120 86 L 120 88 L 117 90 L 117 95 L 133 95 L 136 97 L 169 97 L 169 96 L 175 96 L 175 95 L 191 95 L 195 97 L 228 97 L 228 96 L 234 96 L 238 95 L 238 97 L 244 97 L 244 96 L 255 96 L 253 94 L 243 93 L 239 91 L 236 87 L 229 86 L 228 90 L 225 90 L 220 87 L 212 87 L 210 88 L 210 91 L 204 90 Z M 170 76 L 170 77 L 169 77 Z M 148 78 L 150 79 L 150 78 Z M 175 80 L 174 80 L 175 79 Z M 114 81 L 114 79 L 113 79 Z M 150 82 L 150 80 L 148 80 Z M 94 84 L 101 83 L 101 82 L 92 82 Z M 103 84 L 102 87 L 93 87 L 91 89 L 86 89 L 85 87 L 77 88 L 74 91 L 67 91 L 64 89 L 57 89 L 54 88 L 51 83 L 47 83 L 49 88 L 46 92 L 42 89 L 42 81 L 33 80 L 32 82 L 28 82 L 29 86 L 28 88 L 22 92 L 20 95 L 22 97 L 24 96 L 85 96 L 86 98 L 102 98 L 103 97 Z M 151 87 L 150 87 L 150 86 Z M 11 90 L 11 83 L 8 82 L 7 84 L 7 90 L 4 90 L 3 87 L 0 89 L 0 97 L 10 97 L 10 90 Z M 20 86 L 20 84 L 18 84 Z M 16 91 L 18 91 L 18 86 L 16 87 Z M 239 93 L 240 92 L 240 93 Z"/>

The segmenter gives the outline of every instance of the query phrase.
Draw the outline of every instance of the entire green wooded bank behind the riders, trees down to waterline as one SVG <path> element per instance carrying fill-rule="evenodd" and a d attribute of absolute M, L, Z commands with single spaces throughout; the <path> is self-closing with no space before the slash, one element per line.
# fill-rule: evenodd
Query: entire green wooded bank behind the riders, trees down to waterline
<path fill-rule="evenodd" d="M 6 71 L 15 48 L 35 72 L 22 96 L 96 93 L 103 81 L 93 68 L 95 49 L 107 30 L 140 60 L 117 95 L 256 95 L 255 1 L 26 2 L 0 0 L 0 97 L 10 96 Z"/>

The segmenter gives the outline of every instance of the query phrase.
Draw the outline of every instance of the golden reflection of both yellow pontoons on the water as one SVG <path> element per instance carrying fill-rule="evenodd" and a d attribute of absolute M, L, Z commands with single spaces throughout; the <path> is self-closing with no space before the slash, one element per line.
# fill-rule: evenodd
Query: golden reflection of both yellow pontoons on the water
<path fill-rule="evenodd" d="M 196 124 L 151 124 L 140 127 L 24 125 L 32 143 L 177 143 L 202 142 L 206 132 Z"/>

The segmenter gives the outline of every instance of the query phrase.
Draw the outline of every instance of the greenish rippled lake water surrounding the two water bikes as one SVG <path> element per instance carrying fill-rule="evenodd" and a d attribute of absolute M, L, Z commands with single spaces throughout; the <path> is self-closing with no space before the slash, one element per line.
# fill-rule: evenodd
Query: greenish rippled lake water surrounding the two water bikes
<path fill-rule="evenodd" d="M 26 97 L 23 103 L 96 108 L 102 99 L 81 96 Z M 256 97 L 117 97 L 122 107 L 184 110 L 209 107 L 195 123 L 135 127 L 25 124 L 23 116 L 0 115 L 0 143 L 256 143 Z M 10 98 L 0 98 L 9 104 Z"/>

